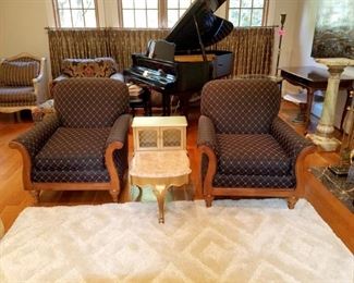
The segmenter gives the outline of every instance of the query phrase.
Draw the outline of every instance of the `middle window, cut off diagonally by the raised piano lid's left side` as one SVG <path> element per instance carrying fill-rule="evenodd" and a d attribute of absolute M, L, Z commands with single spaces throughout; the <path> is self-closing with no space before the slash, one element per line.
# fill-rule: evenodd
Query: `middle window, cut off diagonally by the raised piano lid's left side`
<path fill-rule="evenodd" d="M 194 0 L 119 0 L 120 26 L 172 27 Z"/>

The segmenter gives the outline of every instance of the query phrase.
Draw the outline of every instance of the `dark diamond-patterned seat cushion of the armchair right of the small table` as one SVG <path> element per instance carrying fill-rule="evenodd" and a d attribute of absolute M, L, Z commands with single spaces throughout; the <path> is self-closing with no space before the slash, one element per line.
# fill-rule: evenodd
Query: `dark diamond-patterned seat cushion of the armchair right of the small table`
<path fill-rule="evenodd" d="M 291 158 L 268 134 L 218 134 L 218 173 L 290 175 Z"/>

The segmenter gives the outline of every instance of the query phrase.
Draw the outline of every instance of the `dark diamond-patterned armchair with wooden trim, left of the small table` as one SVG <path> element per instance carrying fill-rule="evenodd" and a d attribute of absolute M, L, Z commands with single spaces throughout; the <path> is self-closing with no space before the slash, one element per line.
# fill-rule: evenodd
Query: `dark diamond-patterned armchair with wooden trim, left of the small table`
<path fill-rule="evenodd" d="M 129 90 L 110 78 L 77 78 L 53 88 L 56 112 L 10 143 L 23 157 L 24 188 L 107 189 L 118 201 L 127 169 Z"/>

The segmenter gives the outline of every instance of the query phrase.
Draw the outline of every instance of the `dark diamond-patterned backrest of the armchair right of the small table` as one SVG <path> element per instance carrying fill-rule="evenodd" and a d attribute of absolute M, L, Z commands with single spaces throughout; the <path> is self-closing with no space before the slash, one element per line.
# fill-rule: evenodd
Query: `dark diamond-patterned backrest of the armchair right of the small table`
<path fill-rule="evenodd" d="M 267 79 L 217 79 L 202 91 L 200 113 L 209 116 L 217 133 L 264 134 L 278 115 L 280 89 Z"/>

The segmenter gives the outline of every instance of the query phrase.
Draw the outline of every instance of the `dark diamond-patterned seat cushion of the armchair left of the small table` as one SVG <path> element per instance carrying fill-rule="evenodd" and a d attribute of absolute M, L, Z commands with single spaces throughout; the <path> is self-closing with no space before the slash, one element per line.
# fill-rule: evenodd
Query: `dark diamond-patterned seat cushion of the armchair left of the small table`
<path fill-rule="evenodd" d="M 102 170 L 110 128 L 59 127 L 35 158 L 38 170 Z"/>

